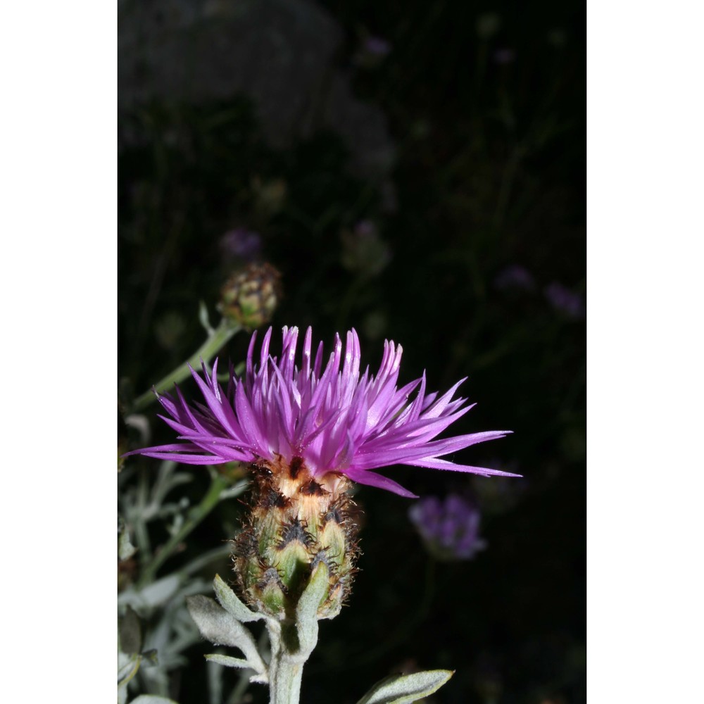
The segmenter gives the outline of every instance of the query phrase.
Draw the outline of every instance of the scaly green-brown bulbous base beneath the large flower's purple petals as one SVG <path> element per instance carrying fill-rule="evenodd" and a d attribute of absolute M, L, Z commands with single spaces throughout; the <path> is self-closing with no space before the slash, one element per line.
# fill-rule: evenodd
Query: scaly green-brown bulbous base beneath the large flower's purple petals
<path fill-rule="evenodd" d="M 332 472 L 314 479 L 301 458 L 253 467 L 253 476 L 251 511 L 233 551 L 244 598 L 260 612 L 290 620 L 322 561 L 329 580 L 318 618 L 337 616 L 358 555 L 350 482 Z"/>

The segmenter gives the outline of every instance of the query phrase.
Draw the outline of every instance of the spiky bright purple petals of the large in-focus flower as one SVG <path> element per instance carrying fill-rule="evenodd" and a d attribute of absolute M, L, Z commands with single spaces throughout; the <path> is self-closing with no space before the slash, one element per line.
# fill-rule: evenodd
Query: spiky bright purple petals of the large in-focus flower
<path fill-rule="evenodd" d="M 323 366 L 322 342 L 314 353 L 312 331 L 306 331 L 300 367 L 296 366 L 298 328 L 284 327 L 279 358 L 271 356 L 272 329 L 265 334 L 254 359 L 256 332 L 249 344 L 246 373 L 234 376 L 230 366 L 227 392 L 212 373 L 191 370 L 205 403 L 188 403 L 180 389 L 159 397 L 168 415 L 161 418 L 177 432 L 175 444 L 134 451 L 148 457 L 191 465 L 230 461 L 256 463 L 272 473 L 282 467 L 306 467 L 312 477 L 343 474 L 353 482 L 378 486 L 401 496 L 410 491 L 375 471 L 389 465 L 413 465 L 474 474 L 518 476 L 499 470 L 455 465 L 440 458 L 508 430 L 493 430 L 436 440 L 452 422 L 467 413 L 464 398 L 452 400 L 458 386 L 446 394 L 427 394 L 425 375 L 397 387 L 401 345 L 384 342 L 376 376 L 369 367 L 360 375 L 357 333 L 347 333 L 343 350 L 339 335 Z M 415 398 L 410 396 L 417 391 Z"/>

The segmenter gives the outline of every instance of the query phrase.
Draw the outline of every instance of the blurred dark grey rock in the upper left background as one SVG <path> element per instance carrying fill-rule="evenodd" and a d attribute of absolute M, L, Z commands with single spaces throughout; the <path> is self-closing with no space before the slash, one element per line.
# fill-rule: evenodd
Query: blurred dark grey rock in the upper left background
<path fill-rule="evenodd" d="M 356 172 L 389 172 L 384 113 L 353 95 L 334 65 L 343 31 L 312 0 L 122 0 L 118 12 L 120 108 L 244 93 L 272 146 L 332 129 Z"/>

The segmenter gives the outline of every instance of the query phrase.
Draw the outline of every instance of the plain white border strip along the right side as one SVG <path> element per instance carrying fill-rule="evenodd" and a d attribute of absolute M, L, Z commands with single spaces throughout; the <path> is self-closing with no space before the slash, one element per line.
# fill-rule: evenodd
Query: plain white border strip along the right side
<path fill-rule="evenodd" d="M 703 14 L 589 4 L 595 703 L 701 696 Z"/>

